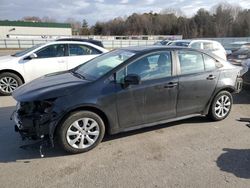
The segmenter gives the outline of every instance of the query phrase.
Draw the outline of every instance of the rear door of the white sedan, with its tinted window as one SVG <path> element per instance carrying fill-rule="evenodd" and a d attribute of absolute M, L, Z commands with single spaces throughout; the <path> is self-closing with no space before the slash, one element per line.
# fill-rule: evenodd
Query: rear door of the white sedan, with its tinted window
<path fill-rule="evenodd" d="M 67 68 L 75 68 L 76 66 L 97 57 L 101 53 L 102 52 L 100 50 L 86 44 L 69 43 Z"/>

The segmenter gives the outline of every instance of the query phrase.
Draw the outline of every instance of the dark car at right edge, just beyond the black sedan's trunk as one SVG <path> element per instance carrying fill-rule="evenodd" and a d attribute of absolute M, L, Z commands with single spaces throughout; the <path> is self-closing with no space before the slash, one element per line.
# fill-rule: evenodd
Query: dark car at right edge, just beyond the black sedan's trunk
<path fill-rule="evenodd" d="M 241 46 L 240 49 L 234 51 L 228 56 L 228 61 L 239 66 L 241 66 L 242 62 L 248 59 L 250 59 L 250 43 Z"/>

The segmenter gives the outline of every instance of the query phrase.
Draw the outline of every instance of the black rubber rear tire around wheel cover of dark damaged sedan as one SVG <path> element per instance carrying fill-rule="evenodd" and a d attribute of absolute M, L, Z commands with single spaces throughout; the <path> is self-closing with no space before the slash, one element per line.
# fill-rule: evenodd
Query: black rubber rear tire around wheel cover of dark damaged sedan
<path fill-rule="evenodd" d="M 223 116 L 223 117 L 219 117 L 219 116 L 217 116 L 216 113 L 215 113 L 215 105 L 216 105 L 217 100 L 218 100 L 222 95 L 226 95 L 226 96 L 229 97 L 230 102 L 231 102 L 231 105 L 230 105 L 230 109 L 229 109 L 228 113 L 227 113 L 225 116 Z M 223 119 L 225 119 L 225 118 L 230 114 L 231 109 L 232 109 L 232 106 L 233 106 L 233 97 L 232 97 L 231 93 L 229 93 L 228 91 L 221 91 L 221 92 L 219 92 L 219 93 L 215 96 L 215 98 L 214 98 L 214 100 L 213 100 L 213 102 L 212 102 L 212 104 L 211 104 L 209 116 L 210 116 L 210 118 L 213 119 L 214 121 L 223 120 Z"/>

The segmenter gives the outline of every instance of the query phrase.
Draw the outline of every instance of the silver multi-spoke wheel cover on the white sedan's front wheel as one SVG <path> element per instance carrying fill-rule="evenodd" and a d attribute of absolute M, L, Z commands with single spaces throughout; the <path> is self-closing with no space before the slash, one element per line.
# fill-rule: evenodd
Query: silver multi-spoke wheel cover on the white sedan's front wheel
<path fill-rule="evenodd" d="M 13 77 L 2 77 L 0 79 L 0 90 L 4 93 L 12 93 L 18 87 L 18 82 Z"/>

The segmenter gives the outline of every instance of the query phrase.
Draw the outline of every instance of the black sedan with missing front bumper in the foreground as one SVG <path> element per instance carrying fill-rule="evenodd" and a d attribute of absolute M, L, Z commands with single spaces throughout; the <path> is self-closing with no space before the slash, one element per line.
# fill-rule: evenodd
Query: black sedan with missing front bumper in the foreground
<path fill-rule="evenodd" d="M 24 138 L 58 139 L 64 150 L 80 153 L 96 147 L 105 132 L 199 115 L 223 120 L 231 93 L 241 90 L 241 69 L 195 49 L 114 50 L 16 89 L 16 130 Z"/>

